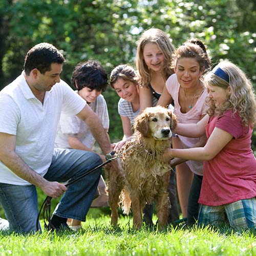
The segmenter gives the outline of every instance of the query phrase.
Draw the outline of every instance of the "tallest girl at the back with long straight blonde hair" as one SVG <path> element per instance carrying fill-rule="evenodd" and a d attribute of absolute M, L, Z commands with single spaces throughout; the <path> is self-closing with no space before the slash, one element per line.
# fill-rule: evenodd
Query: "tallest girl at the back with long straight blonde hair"
<path fill-rule="evenodd" d="M 169 37 L 160 29 L 144 31 L 138 41 L 136 67 L 139 75 L 140 113 L 148 106 L 155 106 L 161 96 L 165 81 L 174 73 L 171 67 L 174 47 Z M 175 173 L 172 171 L 169 183 L 169 222 L 179 219 L 176 196 Z M 152 224 L 152 206 L 146 205 L 144 220 Z"/>

